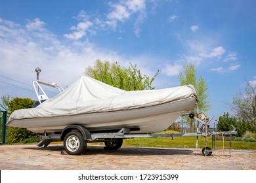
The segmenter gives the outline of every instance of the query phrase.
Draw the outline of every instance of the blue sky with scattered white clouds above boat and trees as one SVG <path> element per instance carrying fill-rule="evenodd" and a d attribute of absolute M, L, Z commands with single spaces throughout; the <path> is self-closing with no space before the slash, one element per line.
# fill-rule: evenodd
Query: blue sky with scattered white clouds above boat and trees
<path fill-rule="evenodd" d="M 253 0 L 0 0 L 0 95 L 36 99 L 25 85 L 36 67 L 65 88 L 96 59 L 131 62 L 146 75 L 159 69 L 160 89 L 179 86 L 182 65 L 193 63 L 208 86 L 207 113 L 219 118 L 245 80 L 256 84 L 255 8 Z"/>

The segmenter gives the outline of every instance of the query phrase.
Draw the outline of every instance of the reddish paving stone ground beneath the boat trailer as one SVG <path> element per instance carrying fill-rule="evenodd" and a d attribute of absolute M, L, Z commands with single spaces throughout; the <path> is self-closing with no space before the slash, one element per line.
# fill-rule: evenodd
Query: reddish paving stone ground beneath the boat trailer
<path fill-rule="evenodd" d="M 202 149 L 121 147 L 104 150 L 87 146 L 81 156 L 62 155 L 62 144 L 47 148 L 30 145 L 0 146 L 1 170 L 256 170 L 256 150 L 215 150 L 209 157 Z"/>

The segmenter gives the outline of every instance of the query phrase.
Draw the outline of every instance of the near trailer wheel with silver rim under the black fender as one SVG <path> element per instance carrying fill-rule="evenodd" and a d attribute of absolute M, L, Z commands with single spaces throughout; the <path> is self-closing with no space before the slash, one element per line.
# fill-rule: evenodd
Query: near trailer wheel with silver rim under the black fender
<path fill-rule="evenodd" d="M 64 149 L 70 155 L 80 155 L 85 148 L 83 135 L 77 131 L 71 131 L 64 138 Z"/>

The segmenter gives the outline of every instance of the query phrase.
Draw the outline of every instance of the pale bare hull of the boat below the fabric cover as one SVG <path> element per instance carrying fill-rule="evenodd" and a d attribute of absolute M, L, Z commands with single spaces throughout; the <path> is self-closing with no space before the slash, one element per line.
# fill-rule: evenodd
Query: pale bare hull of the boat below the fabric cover
<path fill-rule="evenodd" d="M 23 127 L 35 133 L 58 133 L 68 125 L 82 125 L 89 131 L 106 131 L 123 127 L 137 128 L 131 133 L 152 133 L 167 129 L 182 112 L 192 110 L 196 97 L 131 110 L 96 112 L 50 118 L 12 120 L 8 125 Z"/>

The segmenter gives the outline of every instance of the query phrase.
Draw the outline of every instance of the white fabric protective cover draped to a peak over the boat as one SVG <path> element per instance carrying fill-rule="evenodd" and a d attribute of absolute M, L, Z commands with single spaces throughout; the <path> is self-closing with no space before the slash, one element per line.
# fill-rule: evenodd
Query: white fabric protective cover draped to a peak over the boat
<path fill-rule="evenodd" d="M 15 110 L 9 118 L 9 122 L 21 119 L 129 110 L 191 97 L 197 98 L 192 85 L 161 90 L 125 91 L 88 76 L 81 76 L 72 86 L 41 105 L 35 108 Z"/>

